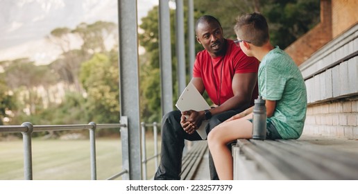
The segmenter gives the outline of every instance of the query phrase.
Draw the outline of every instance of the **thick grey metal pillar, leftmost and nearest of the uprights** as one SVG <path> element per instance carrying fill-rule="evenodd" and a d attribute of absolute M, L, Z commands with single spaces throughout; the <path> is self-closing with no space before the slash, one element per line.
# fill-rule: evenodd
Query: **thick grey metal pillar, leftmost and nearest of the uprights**
<path fill-rule="evenodd" d="M 129 178 L 142 179 L 139 116 L 139 63 L 137 0 L 118 0 L 119 100 L 121 116 L 128 116 Z"/>

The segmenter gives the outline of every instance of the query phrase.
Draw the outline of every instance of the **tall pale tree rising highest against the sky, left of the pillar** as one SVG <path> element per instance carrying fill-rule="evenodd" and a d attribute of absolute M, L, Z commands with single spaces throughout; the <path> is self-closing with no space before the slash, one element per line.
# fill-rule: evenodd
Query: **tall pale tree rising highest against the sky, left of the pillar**
<path fill-rule="evenodd" d="M 116 29 L 117 25 L 112 22 L 96 21 L 93 24 L 78 24 L 74 30 L 56 28 L 51 31 L 47 38 L 62 51 L 62 58 L 52 62 L 51 67 L 67 83 L 68 89 L 74 85 L 75 91 L 82 93 L 78 80 L 80 63 L 91 58 L 94 53 L 107 52 L 105 40 L 108 37 L 117 39 Z M 80 42 L 80 50 L 74 49 L 74 42 Z"/>

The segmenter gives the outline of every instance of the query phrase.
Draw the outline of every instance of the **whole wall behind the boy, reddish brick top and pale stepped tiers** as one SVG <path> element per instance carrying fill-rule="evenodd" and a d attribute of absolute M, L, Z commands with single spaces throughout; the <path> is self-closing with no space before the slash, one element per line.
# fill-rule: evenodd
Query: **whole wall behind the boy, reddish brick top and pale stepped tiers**
<path fill-rule="evenodd" d="M 358 139 L 358 1 L 321 0 L 321 23 L 285 51 L 307 87 L 303 135 Z"/>

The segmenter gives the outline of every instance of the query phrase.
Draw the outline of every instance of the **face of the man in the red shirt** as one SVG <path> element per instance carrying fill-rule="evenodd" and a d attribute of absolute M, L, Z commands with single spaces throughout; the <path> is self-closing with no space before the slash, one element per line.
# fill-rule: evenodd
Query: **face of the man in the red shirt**
<path fill-rule="evenodd" d="M 224 47 L 223 29 L 217 22 L 198 24 L 196 40 L 209 53 L 218 55 Z"/>

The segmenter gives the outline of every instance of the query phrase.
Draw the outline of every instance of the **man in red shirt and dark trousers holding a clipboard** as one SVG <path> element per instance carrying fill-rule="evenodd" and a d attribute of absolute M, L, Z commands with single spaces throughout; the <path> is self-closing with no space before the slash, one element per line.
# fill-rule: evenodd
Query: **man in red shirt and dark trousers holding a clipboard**
<path fill-rule="evenodd" d="M 216 18 L 205 15 L 196 21 L 195 27 L 196 40 L 205 50 L 196 55 L 191 82 L 201 94 L 206 90 L 214 105 L 200 112 L 174 110 L 163 117 L 161 161 L 154 179 L 180 179 L 185 139 L 202 140 L 196 129 L 203 121 L 210 119 L 208 133 L 253 105 L 258 95 L 258 60 L 246 56 L 232 40 L 225 39 Z M 210 178 L 219 179 L 211 155 Z"/>

